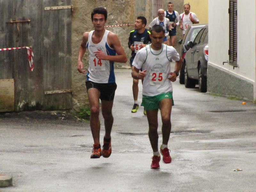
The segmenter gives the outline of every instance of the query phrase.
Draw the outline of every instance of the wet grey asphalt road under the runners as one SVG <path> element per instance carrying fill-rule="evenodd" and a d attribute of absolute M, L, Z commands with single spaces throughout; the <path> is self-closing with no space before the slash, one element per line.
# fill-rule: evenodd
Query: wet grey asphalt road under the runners
<path fill-rule="evenodd" d="M 152 149 L 143 108 L 132 114 L 131 69 L 117 69 L 112 154 L 90 159 L 88 122 L 73 118 L 0 117 L 0 192 L 253 192 L 256 104 L 200 93 L 173 83 L 172 163 L 150 169 Z M 141 102 L 141 84 L 139 101 Z M 32 112 L 30 112 L 32 113 Z M 54 114 L 52 114 L 54 116 Z M 160 117 L 160 116 L 159 116 Z M 100 117 L 101 124 L 103 119 Z M 159 147 L 162 142 L 159 121 Z M 104 127 L 101 126 L 101 140 Z M 243 171 L 235 172 L 236 168 Z"/>

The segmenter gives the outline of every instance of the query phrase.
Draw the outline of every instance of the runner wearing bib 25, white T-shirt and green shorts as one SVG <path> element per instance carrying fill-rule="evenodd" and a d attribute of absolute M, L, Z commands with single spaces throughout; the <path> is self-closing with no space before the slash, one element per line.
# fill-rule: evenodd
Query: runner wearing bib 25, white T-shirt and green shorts
<path fill-rule="evenodd" d="M 168 141 L 171 133 L 172 82 L 176 81 L 182 64 L 182 58 L 177 51 L 163 44 L 164 29 L 154 25 L 150 30 L 151 44 L 137 52 L 132 65 L 132 77 L 143 79 L 142 103 L 147 112 L 148 137 L 153 149 L 151 169 L 159 169 L 163 155 L 163 162 L 172 162 Z M 170 60 L 175 60 L 171 69 Z M 142 68 L 142 71 L 140 71 Z M 172 72 L 173 71 L 173 72 Z M 158 151 L 158 109 L 161 111 L 163 143 Z"/>

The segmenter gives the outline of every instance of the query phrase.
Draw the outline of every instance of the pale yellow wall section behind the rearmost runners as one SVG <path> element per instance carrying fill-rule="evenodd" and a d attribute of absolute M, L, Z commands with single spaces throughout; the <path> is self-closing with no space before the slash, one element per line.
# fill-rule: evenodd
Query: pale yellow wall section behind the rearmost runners
<path fill-rule="evenodd" d="M 190 11 L 196 13 L 199 23 L 208 23 L 208 0 L 184 0 L 190 4 Z"/>

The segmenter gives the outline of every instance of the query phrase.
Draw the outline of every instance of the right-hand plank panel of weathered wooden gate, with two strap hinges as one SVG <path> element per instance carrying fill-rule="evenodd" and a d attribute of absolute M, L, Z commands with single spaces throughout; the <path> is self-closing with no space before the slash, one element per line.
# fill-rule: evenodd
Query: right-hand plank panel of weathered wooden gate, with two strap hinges
<path fill-rule="evenodd" d="M 44 110 L 72 108 L 71 0 L 44 0 Z"/>

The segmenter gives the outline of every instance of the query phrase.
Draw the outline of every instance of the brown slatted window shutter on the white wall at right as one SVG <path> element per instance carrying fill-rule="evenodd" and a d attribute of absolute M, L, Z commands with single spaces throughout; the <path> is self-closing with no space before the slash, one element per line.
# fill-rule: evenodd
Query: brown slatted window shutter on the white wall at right
<path fill-rule="evenodd" d="M 229 0 L 229 64 L 237 67 L 237 0 Z"/>

